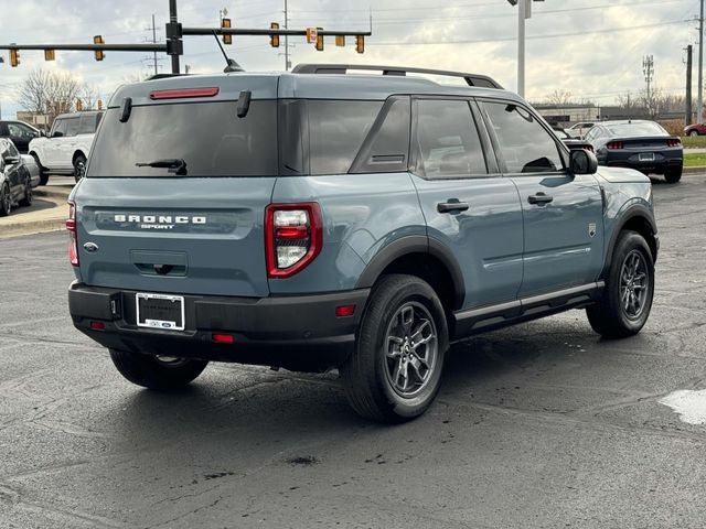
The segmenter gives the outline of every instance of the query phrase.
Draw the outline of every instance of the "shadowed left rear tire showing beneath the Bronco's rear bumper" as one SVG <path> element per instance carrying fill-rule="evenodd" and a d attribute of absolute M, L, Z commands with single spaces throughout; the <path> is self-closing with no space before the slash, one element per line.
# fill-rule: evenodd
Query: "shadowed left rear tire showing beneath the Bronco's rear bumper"
<path fill-rule="evenodd" d="M 157 390 L 186 386 L 206 368 L 206 360 L 186 358 L 160 359 L 151 355 L 110 349 L 113 364 L 132 384 Z"/>

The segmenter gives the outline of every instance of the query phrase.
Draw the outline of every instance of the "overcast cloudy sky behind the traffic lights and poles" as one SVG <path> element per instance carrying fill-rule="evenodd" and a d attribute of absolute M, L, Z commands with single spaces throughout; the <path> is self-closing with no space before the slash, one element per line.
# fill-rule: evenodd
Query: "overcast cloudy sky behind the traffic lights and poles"
<path fill-rule="evenodd" d="M 101 34 L 108 43 L 152 39 L 156 15 L 158 39 L 163 37 L 168 0 L 0 0 L 0 41 L 22 43 L 90 43 Z M 654 55 L 654 83 L 664 91 L 682 94 L 685 85 L 684 48 L 695 44 L 697 65 L 698 0 L 546 0 L 534 3 L 527 21 L 526 96 L 542 101 L 555 89 L 576 98 L 610 105 L 617 95 L 644 88 L 642 58 Z M 284 21 L 284 0 L 180 0 L 184 25 L 218 25 L 226 8 L 234 26 L 269 28 Z M 370 3 L 373 36 L 365 54 L 353 43 L 336 48 L 327 41 L 317 52 L 303 37 L 292 37 L 292 63 L 349 62 L 413 65 L 488 74 L 503 86 L 516 88 L 517 8 L 507 0 L 376 0 Z M 366 30 L 368 4 L 352 0 L 289 0 L 290 28 Z M 284 45 L 284 40 L 282 40 Z M 279 50 L 266 36 L 234 37 L 229 55 L 248 71 L 284 69 Z M 184 37 L 182 68 L 193 73 L 221 72 L 224 63 L 212 37 Z M 138 75 L 150 72 L 147 53 L 109 52 L 96 62 L 89 52 L 56 52 L 44 62 L 42 52 L 23 51 L 17 68 L 0 51 L 2 117 L 19 109 L 14 87 L 36 67 L 67 71 L 95 85 L 104 99 Z M 169 60 L 160 58 L 162 72 Z M 694 89 L 696 90 L 696 69 Z"/>

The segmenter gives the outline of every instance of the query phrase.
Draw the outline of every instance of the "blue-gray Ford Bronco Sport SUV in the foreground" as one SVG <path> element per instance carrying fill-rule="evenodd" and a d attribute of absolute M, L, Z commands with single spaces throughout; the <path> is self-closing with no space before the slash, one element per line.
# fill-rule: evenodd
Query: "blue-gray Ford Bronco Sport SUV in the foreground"
<path fill-rule="evenodd" d="M 633 335 L 654 292 L 650 180 L 599 170 L 480 75 L 124 86 L 69 202 L 73 322 L 152 389 L 211 360 L 338 368 L 355 411 L 404 421 L 449 344 L 569 309 Z"/>

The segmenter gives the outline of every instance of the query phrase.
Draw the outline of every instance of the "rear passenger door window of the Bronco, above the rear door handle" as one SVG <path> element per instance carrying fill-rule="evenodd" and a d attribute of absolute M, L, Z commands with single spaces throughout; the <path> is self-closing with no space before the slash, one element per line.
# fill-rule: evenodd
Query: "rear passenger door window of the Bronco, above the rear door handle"
<path fill-rule="evenodd" d="M 443 177 L 488 173 L 468 101 L 417 101 L 417 149 L 418 174 Z"/>

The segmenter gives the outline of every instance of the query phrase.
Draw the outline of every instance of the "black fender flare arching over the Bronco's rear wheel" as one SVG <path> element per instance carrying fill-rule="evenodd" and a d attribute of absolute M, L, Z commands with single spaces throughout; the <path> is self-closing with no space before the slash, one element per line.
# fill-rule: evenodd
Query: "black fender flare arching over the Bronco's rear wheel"
<path fill-rule="evenodd" d="M 422 235 L 402 237 L 382 248 L 367 263 L 355 288 L 372 288 L 392 262 L 411 253 L 427 253 L 437 258 L 446 267 L 453 283 L 453 305 L 454 309 L 459 309 L 466 299 L 466 282 L 461 267 L 448 247 L 432 237 Z"/>

